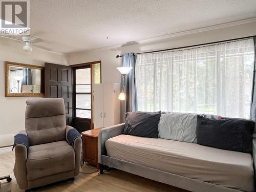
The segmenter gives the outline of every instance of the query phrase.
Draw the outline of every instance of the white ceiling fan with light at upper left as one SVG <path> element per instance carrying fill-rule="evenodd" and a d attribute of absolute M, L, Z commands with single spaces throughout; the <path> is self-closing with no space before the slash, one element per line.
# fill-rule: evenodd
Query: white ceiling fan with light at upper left
<path fill-rule="evenodd" d="M 0 35 L 0 37 L 4 37 L 4 38 L 7 38 L 7 39 L 11 39 L 11 40 L 16 40 L 16 41 L 22 42 L 24 44 L 23 50 L 26 51 L 26 52 L 32 51 L 33 50 L 32 46 L 34 46 L 36 48 L 39 48 L 39 49 L 44 49 L 44 50 L 47 50 L 47 51 L 52 51 L 52 49 L 36 45 L 37 42 L 44 41 L 44 40 L 42 40 L 39 37 L 33 37 L 31 35 L 22 35 L 22 39 L 21 40 L 15 39 L 15 38 L 11 38 L 11 37 L 7 37 L 7 36 L 2 36 L 2 35 Z"/>

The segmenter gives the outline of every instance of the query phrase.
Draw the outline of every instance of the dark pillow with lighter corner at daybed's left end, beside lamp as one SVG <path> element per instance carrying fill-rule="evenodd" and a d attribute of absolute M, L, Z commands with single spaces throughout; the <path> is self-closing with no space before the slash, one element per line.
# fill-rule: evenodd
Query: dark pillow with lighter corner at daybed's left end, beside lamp
<path fill-rule="evenodd" d="M 123 134 L 158 138 L 159 112 L 128 112 L 125 116 Z"/>

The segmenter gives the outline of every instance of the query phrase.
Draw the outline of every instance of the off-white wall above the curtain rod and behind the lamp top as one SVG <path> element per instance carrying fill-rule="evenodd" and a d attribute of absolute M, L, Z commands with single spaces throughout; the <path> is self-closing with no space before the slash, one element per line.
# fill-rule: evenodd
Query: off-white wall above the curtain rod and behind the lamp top
<path fill-rule="evenodd" d="M 223 25 L 221 27 L 223 27 Z M 134 45 L 130 45 L 130 46 L 127 46 L 127 45 L 112 46 L 109 48 L 102 48 L 102 49 L 70 54 L 69 65 L 101 60 L 102 83 L 104 84 L 104 83 L 110 83 L 110 82 L 112 83 L 120 82 L 121 75 L 116 70 L 116 67 L 121 66 L 122 58 L 115 58 L 116 55 L 121 55 L 126 52 L 140 53 L 140 52 L 146 52 L 146 51 L 155 51 L 155 50 L 163 50 L 163 49 L 169 49 L 169 48 L 199 45 L 207 42 L 215 42 L 215 41 L 256 35 L 255 21 L 253 23 L 247 23 L 247 24 L 242 24 L 242 25 L 237 25 L 232 27 L 220 28 L 220 26 L 218 26 L 216 28 L 219 28 L 219 29 L 212 29 L 204 32 L 198 32 L 200 30 L 194 30 L 192 31 L 193 33 L 182 35 L 182 36 L 176 36 L 168 39 L 153 40 L 153 41 L 147 41 L 147 42 L 144 41 L 144 43 L 133 42 Z M 201 31 L 203 30 L 205 29 L 202 29 Z M 197 33 L 194 33 L 195 31 L 197 31 Z M 189 32 L 186 32 L 186 33 L 189 33 Z M 108 95 L 110 94 L 113 94 L 111 90 L 106 93 L 104 91 L 104 97 L 108 97 Z M 112 114 L 111 111 L 106 113 Z"/>

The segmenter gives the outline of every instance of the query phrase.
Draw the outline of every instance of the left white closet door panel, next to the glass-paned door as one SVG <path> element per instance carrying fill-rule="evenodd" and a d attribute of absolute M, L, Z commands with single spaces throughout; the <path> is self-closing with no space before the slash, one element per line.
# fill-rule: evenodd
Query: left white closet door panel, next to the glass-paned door
<path fill-rule="evenodd" d="M 94 84 L 93 89 L 94 129 L 97 129 L 103 126 L 103 85 Z"/>

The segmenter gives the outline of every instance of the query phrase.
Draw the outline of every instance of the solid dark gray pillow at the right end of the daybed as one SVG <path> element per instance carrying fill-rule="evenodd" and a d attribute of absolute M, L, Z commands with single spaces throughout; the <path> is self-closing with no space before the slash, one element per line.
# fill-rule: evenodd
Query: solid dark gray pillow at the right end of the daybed
<path fill-rule="evenodd" d="M 211 119 L 197 115 L 197 143 L 237 152 L 252 152 L 254 121 Z"/>

